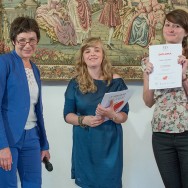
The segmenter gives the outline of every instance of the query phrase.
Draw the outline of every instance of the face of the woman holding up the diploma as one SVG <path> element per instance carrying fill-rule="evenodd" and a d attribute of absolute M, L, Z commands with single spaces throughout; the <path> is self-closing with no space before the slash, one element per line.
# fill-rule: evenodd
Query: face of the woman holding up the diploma
<path fill-rule="evenodd" d="M 187 35 L 185 29 L 179 24 L 174 24 L 167 19 L 163 27 L 163 36 L 168 44 L 182 43 L 183 38 Z"/>

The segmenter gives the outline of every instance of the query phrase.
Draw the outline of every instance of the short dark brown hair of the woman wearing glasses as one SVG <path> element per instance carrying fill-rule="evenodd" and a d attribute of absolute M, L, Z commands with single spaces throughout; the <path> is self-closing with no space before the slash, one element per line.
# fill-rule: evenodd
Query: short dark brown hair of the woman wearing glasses
<path fill-rule="evenodd" d="M 10 39 L 11 41 L 16 40 L 16 37 L 20 33 L 35 32 L 37 40 L 40 40 L 40 30 L 38 23 L 35 19 L 29 17 L 17 17 L 13 20 L 10 26 Z"/>

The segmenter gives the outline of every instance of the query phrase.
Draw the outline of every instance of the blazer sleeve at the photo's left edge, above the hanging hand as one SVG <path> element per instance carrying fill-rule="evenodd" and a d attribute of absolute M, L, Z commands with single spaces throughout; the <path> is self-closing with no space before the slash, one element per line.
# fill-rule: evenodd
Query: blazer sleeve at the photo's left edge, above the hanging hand
<path fill-rule="evenodd" d="M 5 125 L 2 116 L 2 104 L 4 98 L 4 92 L 7 84 L 7 77 L 8 77 L 8 66 L 5 63 L 5 58 L 0 58 L 0 149 L 5 147 L 9 147 L 6 132 L 5 132 Z"/>

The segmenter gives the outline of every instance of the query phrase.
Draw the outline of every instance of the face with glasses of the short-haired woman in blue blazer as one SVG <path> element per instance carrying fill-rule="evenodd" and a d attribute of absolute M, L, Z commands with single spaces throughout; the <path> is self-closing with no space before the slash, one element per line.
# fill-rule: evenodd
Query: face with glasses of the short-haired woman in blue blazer
<path fill-rule="evenodd" d="M 22 45 L 21 43 L 23 43 L 24 41 L 26 41 L 27 43 L 25 45 Z M 32 41 L 38 41 L 37 35 L 33 31 L 27 33 L 23 32 L 18 34 L 15 41 L 13 42 L 16 53 L 23 60 L 26 61 L 29 60 L 36 51 L 37 43 L 32 44 L 33 43 Z"/>

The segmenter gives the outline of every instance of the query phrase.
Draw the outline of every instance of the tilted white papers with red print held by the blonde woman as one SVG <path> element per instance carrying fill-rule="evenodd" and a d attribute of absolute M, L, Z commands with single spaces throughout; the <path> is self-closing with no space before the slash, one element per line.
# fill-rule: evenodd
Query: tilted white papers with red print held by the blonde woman
<path fill-rule="evenodd" d="M 122 91 L 116 91 L 116 92 L 110 92 L 105 93 L 101 105 L 105 108 L 110 106 L 110 102 L 113 101 L 114 103 L 114 111 L 120 112 L 121 109 L 126 105 L 128 100 L 132 96 L 132 91 L 129 89 L 122 90 Z M 107 121 L 108 118 L 105 118 L 105 121 Z"/>

